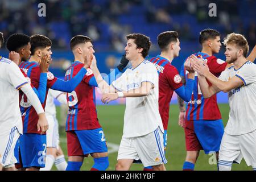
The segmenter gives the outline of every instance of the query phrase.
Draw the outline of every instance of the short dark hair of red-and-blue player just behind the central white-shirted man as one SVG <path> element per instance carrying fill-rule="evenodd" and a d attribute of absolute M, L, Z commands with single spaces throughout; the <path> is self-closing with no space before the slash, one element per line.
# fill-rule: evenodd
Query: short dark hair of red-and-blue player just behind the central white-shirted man
<path fill-rule="evenodd" d="M 158 46 L 163 51 L 171 42 L 177 42 L 179 34 L 176 31 L 166 31 L 158 35 Z"/>

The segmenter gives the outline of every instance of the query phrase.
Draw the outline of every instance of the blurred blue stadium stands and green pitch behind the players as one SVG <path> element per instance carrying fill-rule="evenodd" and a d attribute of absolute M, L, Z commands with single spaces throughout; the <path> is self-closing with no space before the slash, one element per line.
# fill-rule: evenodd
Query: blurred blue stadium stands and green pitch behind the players
<path fill-rule="evenodd" d="M 45 3 L 46 16 L 39 17 L 39 3 Z M 210 17 L 209 3 L 216 3 L 217 16 Z M 98 67 L 102 73 L 109 73 L 118 64 L 125 47 L 125 35 L 137 32 L 150 36 L 153 46 L 150 57 L 159 54 L 156 37 L 160 32 L 175 30 L 179 32 L 181 51 L 172 64 L 180 70 L 185 57 L 200 51 L 199 32 L 204 28 L 214 28 L 221 32 L 221 39 L 230 32 L 246 36 L 250 49 L 256 43 L 256 1 L 188 1 L 188 0 L 88 0 L 88 1 L 36 1 L 36 0 L 1 0 L 0 31 L 5 39 L 14 33 L 27 35 L 42 34 L 52 40 L 53 63 L 50 71 L 63 78 L 65 70 L 73 61 L 69 49 L 69 40 L 75 35 L 86 35 L 93 39 Z M 7 56 L 5 46 L 0 55 Z M 224 47 L 217 55 L 225 60 Z M 122 136 L 123 113 L 125 100 L 118 100 L 112 105 L 101 105 L 97 93 L 98 118 L 114 150 Z M 228 121 L 229 107 L 226 94 L 218 94 L 222 117 Z M 176 105 L 176 94 L 171 102 L 170 125 L 168 129 L 167 169 L 180 170 L 185 159 L 185 143 L 183 129 L 177 126 L 179 109 Z M 67 154 L 65 143 L 65 110 L 58 107 L 60 120 L 61 146 Z M 112 146 L 112 147 L 111 147 Z M 201 152 L 203 154 L 203 152 Z M 200 155 L 196 170 L 216 170 L 210 165 L 210 156 Z M 114 169 L 117 152 L 110 154 L 110 170 Z M 82 169 L 90 169 L 92 158 L 85 160 Z M 55 169 L 55 168 L 53 168 Z M 131 169 L 140 170 L 142 166 L 134 164 Z M 233 169 L 245 170 L 243 162 L 234 165 Z"/>

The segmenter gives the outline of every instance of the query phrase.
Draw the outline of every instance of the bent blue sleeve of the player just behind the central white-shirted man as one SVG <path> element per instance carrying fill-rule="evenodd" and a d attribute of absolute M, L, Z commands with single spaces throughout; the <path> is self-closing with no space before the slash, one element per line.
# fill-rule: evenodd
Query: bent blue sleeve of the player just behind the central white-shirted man
<path fill-rule="evenodd" d="M 194 82 L 195 82 L 195 80 L 192 80 L 192 79 L 188 78 L 186 86 L 182 85 L 182 86 L 180 86 L 180 88 L 178 88 L 178 89 L 176 89 L 174 91 L 185 102 L 188 102 L 189 100 L 191 100 Z"/>

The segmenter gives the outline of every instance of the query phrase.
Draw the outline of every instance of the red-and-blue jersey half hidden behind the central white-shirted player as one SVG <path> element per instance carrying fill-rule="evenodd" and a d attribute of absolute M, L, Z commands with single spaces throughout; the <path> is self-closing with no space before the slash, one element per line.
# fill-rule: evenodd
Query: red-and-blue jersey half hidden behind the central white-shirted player
<path fill-rule="evenodd" d="M 159 75 L 159 113 L 164 130 L 167 130 L 172 94 L 182 86 L 181 77 L 177 69 L 164 57 L 158 55 L 150 61 L 155 65 Z"/>

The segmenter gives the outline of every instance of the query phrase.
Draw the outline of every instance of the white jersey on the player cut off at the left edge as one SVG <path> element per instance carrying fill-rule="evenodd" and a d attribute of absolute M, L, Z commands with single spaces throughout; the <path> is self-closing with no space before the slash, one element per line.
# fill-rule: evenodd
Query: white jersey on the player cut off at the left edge
<path fill-rule="evenodd" d="M 17 127 L 22 134 L 18 89 L 28 81 L 13 61 L 0 56 L 0 130 Z"/>

